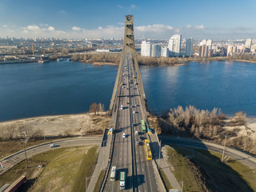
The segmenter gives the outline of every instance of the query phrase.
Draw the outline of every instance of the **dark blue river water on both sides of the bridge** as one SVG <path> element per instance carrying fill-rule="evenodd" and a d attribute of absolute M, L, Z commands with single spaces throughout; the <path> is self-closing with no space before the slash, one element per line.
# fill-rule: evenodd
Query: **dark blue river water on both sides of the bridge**
<path fill-rule="evenodd" d="M 0 121 L 86 112 L 92 102 L 110 105 L 117 66 L 81 62 L 0 65 Z M 183 66 L 142 67 L 150 110 L 177 106 L 221 108 L 256 116 L 256 64 L 190 62 Z"/>

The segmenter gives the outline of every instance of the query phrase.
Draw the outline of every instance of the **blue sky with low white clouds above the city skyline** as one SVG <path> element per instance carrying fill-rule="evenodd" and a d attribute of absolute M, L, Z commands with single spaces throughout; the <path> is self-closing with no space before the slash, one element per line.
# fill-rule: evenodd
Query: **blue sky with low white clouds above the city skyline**
<path fill-rule="evenodd" d="M 135 38 L 255 38 L 256 0 L 0 0 L 0 37 L 122 38 L 134 14 Z"/>

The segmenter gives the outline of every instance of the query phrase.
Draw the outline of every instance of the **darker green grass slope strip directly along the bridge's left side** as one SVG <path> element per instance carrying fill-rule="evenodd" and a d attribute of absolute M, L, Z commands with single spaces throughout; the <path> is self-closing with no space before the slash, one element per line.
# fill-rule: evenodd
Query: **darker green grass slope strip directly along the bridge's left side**
<path fill-rule="evenodd" d="M 85 191 L 86 190 L 86 177 L 90 177 L 96 165 L 98 146 L 94 146 L 87 151 L 87 154 L 83 157 L 81 166 L 78 173 L 75 176 L 75 182 L 72 186 L 72 191 Z M 89 186 L 89 181 L 87 180 L 87 185 Z"/>

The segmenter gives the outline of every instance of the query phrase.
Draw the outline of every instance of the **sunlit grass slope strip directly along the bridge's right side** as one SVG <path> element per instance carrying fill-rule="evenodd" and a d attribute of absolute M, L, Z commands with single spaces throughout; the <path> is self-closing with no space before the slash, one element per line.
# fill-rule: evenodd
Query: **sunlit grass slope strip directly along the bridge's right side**
<path fill-rule="evenodd" d="M 191 153 L 193 152 L 190 150 L 186 151 L 186 154 L 191 155 Z M 167 154 L 175 178 L 178 182 L 183 182 L 184 191 L 205 191 L 198 170 L 189 159 L 184 158 L 178 150 L 169 149 Z"/>

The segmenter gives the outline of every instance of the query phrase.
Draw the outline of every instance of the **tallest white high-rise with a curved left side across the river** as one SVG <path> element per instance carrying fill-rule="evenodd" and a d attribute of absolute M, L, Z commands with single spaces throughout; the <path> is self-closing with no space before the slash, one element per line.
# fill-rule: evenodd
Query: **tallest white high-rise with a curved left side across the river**
<path fill-rule="evenodd" d="M 175 34 L 173 35 L 168 44 L 168 48 L 170 51 L 170 56 L 180 56 L 181 54 L 181 41 L 182 41 L 182 35 L 181 34 Z"/>

